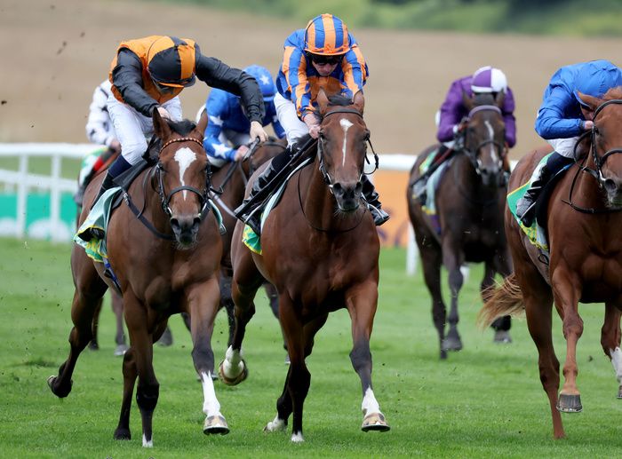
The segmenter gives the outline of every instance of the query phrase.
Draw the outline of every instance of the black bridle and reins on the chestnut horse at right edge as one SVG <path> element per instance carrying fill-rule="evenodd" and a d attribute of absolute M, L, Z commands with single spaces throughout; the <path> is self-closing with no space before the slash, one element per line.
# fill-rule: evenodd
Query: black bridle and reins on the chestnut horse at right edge
<path fill-rule="evenodd" d="M 611 99 L 611 100 L 607 100 L 606 102 L 603 102 L 601 105 L 599 105 L 596 110 L 594 111 L 594 116 L 592 117 L 592 119 L 596 119 L 596 116 L 599 115 L 602 112 L 602 109 L 604 107 L 607 107 L 609 105 L 612 104 L 616 104 L 616 105 L 620 105 L 622 104 L 622 99 Z M 590 150 L 591 150 L 591 154 L 592 157 L 594 159 L 594 164 L 596 166 L 596 169 L 592 169 L 589 168 L 585 165 L 585 163 L 587 162 L 587 156 L 583 159 L 583 161 L 581 163 L 579 163 L 577 161 L 577 149 L 579 144 L 584 141 L 586 138 L 590 139 Z M 570 185 L 570 191 L 568 193 L 568 201 L 563 200 L 562 202 L 565 204 L 568 204 L 573 210 L 577 210 L 578 212 L 581 213 L 585 213 L 585 214 L 607 214 L 607 213 L 615 213 L 615 212 L 619 212 L 622 211 L 622 207 L 615 207 L 615 208 L 605 208 L 605 209 L 594 209 L 594 208 L 586 208 L 586 207 L 582 207 L 579 206 L 578 204 L 575 204 L 574 202 L 572 202 L 572 193 L 574 191 L 574 188 L 577 184 L 577 180 L 578 180 L 578 174 L 580 172 L 587 172 L 588 174 L 590 174 L 591 176 L 593 176 L 594 178 L 596 178 L 596 180 L 598 181 L 598 187 L 599 189 L 602 190 L 605 178 L 602 175 L 602 166 L 604 165 L 605 161 L 607 161 L 607 158 L 610 157 L 610 155 L 612 154 L 617 154 L 617 153 L 622 153 L 622 148 L 612 148 L 610 150 L 608 150 L 607 152 L 605 152 L 604 154 L 602 154 L 602 156 L 598 155 L 598 148 L 596 146 L 596 127 L 595 125 L 592 126 L 592 130 L 591 131 L 586 131 L 583 134 L 581 134 L 578 139 L 577 139 L 577 143 L 574 146 L 574 154 L 573 156 L 575 157 L 575 164 L 577 164 L 578 169 L 577 172 L 575 173 L 575 176 L 572 178 L 572 183 Z"/>

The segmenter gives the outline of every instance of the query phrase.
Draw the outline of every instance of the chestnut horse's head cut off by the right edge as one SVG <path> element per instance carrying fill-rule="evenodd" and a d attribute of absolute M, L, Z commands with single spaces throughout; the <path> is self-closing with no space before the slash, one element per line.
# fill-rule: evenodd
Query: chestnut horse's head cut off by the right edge
<path fill-rule="evenodd" d="M 592 158 L 597 178 L 607 192 L 611 207 L 622 206 L 622 86 L 600 98 L 578 94 L 586 104 L 586 119 L 592 118 Z"/>

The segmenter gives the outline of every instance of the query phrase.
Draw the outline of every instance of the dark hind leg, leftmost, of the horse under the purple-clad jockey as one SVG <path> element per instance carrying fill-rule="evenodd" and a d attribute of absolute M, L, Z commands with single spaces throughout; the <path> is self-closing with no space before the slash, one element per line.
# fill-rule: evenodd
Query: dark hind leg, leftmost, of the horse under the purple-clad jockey
<path fill-rule="evenodd" d="M 432 236 L 428 236 L 432 237 Z M 417 234 L 419 253 L 421 254 L 421 264 L 423 265 L 423 276 L 426 281 L 427 289 L 432 296 L 432 320 L 438 332 L 438 343 L 441 350 L 441 359 L 447 359 L 447 350 L 443 349 L 445 339 L 445 321 L 447 321 L 447 307 L 443 303 L 441 294 L 441 249 L 435 241 L 425 241 L 425 235 Z M 435 244 L 431 247 L 430 244 Z"/>

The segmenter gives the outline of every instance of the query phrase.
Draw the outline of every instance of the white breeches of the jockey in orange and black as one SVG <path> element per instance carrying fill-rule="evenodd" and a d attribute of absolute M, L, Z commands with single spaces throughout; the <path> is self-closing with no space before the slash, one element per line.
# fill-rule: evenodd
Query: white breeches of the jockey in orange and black
<path fill-rule="evenodd" d="M 178 97 L 162 104 L 173 121 L 181 121 L 181 101 Z M 108 98 L 108 115 L 115 126 L 116 138 L 121 143 L 125 161 L 134 165 L 147 150 L 147 140 L 154 133 L 154 122 L 135 108 L 119 102 L 114 96 Z"/>

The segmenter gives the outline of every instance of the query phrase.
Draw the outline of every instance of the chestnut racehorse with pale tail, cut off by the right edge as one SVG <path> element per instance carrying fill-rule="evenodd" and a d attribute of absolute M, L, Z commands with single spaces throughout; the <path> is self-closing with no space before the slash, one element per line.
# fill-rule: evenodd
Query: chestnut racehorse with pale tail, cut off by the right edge
<path fill-rule="evenodd" d="M 577 344 L 583 333 L 578 302 L 604 303 L 602 350 L 622 380 L 620 309 L 622 308 L 622 87 L 608 91 L 603 99 L 579 97 L 594 112 L 594 129 L 578 142 L 576 159 L 565 172 L 548 202 L 546 232 L 550 250 L 548 264 L 530 244 L 506 207 L 506 233 L 514 274 L 496 289 L 481 311 L 482 323 L 498 315 L 520 313 L 524 308 L 530 335 L 538 348 L 540 381 L 548 396 L 554 438 L 564 437 L 562 413 L 582 410 L 577 387 Z M 510 177 L 509 188 L 526 183 L 550 148 L 526 154 Z M 564 384 L 560 384 L 559 360 L 553 347 L 552 307 L 562 318 L 566 339 Z M 622 398 L 622 387 L 618 387 Z"/>

